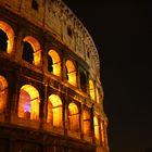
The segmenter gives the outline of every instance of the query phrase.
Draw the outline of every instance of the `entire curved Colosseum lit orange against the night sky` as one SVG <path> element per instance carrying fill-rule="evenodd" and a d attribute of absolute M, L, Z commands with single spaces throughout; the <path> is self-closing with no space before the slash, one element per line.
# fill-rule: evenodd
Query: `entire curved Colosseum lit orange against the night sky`
<path fill-rule="evenodd" d="M 0 152 L 109 152 L 100 59 L 62 0 L 0 0 Z"/>

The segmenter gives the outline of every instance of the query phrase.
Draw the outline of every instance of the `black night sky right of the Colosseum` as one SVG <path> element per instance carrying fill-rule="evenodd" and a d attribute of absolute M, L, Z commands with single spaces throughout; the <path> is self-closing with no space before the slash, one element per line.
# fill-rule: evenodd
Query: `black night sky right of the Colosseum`
<path fill-rule="evenodd" d="M 152 148 L 152 5 L 64 0 L 98 48 L 111 152 Z"/>

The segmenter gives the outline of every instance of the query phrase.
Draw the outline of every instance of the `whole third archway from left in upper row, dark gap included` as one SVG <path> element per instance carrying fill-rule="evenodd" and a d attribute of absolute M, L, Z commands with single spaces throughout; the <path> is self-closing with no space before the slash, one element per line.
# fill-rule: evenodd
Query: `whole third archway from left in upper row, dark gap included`
<path fill-rule="evenodd" d="M 56 76 L 61 76 L 61 60 L 56 51 L 50 50 L 48 52 L 48 71 Z"/>

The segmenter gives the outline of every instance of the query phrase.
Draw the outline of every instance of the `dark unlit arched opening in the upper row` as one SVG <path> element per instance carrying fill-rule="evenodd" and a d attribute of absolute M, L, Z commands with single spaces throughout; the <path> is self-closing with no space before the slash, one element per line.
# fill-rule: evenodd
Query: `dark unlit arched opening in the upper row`
<path fill-rule="evenodd" d="M 80 75 L 80 88 L 84 92 L 87 92 L 87 77 L 84 72 L 79 73 Z"/>

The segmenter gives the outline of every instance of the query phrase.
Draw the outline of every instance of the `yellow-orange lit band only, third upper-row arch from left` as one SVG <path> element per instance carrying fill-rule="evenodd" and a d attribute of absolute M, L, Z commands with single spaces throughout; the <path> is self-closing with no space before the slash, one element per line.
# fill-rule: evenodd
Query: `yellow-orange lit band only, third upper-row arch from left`
<path fill-rule="evenodd" d="M 61 75 L 61 60 L 59 54 L 54 50 L 50 50 L 48 53 L 53 61 L 53 74 L 56 76 Z"/>

